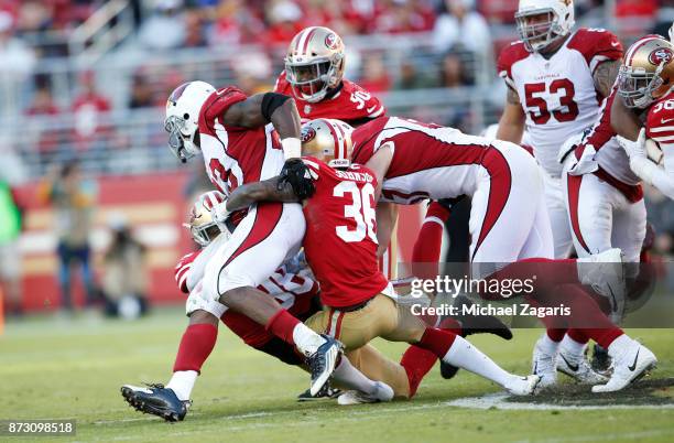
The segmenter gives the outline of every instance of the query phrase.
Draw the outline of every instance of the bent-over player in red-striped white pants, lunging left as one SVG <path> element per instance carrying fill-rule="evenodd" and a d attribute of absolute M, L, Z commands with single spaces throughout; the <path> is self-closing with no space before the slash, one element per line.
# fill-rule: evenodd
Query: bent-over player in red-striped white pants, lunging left
<path fill-rule="evenodd" d="M 554 306 L 564 300 L 572 306 L 573 318 L 547 316 L 544 323 L 548 329 L 564 329 L 569 323 L 581 325 L 579 335 L 608 347 L 609 355 L 617 358 L 607 385 L 594 386 L 594 391 L 622 389 L 654 365 L 654 355 L 613 325 L 583 288 L 590 284 L 609 299 L 624 291 L 622 267 L 615 266 L 621 263 L 620 250 L 577 260 L 550 259 L 552 234 L 542 171 L 525 150 L 510 142 L 398 117 L 363 125 L 351 137 L 352 161 L 371 169 L 382 183 L 381 197 L 377 195 L 380 241 L 391 233 L 393 204 L 469 195 L 474 278 L 526 279 L 535 274 L 532 302 Z M 420 147 L 423 155 L 418 154 Z M 581 367 L 583 347 L 565 355 L 570 365 Z M 584 370 L 591 369 L 585 364 Z M 552 379 L 543 380 L 550 385 L 555 382 L 555 367 L 543 372 L 551 372 Z M 599 380 L 602 377 L 597 374 L 584 377 L 585 382 Z"/>

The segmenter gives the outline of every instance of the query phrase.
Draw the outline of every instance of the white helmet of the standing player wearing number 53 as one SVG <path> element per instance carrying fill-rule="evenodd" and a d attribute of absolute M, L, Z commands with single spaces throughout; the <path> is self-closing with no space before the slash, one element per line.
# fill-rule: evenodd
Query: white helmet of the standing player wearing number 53
<path fill-rule="evenodd" d="M 546 19 L 543 20 L 543 14 Z M 541 15 L 539 20 L 534 19 Z M 540 52 L 574 26 L 573 0 L 520 0 L 515 12 L 518 33 L 529 52 Z"/>

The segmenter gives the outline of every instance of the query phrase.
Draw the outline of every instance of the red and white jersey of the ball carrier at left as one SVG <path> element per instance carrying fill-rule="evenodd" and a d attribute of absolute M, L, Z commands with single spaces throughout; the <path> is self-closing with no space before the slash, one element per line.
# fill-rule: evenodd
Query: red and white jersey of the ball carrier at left
<path fill-rule="evenodd" d="M 278 175 L 284 158 L 273 126 L 238 128 L 225 126 L 222 115 L 230 106 L 246 100 L 239 88 L 230 86 L 210 95 L 199 114 L 199 137 L 206 172 L 225 195 L 244 183 Z"/>

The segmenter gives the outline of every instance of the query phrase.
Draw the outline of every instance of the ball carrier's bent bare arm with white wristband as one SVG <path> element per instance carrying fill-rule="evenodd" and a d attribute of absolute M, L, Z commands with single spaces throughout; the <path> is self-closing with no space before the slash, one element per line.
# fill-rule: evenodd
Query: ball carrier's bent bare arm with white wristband
<path fill-rule="evenodd" d="M 281 138 L 286 159 L 301 155 L 302 120 L 295 100 L 278 93 L 256 94 L 230 106 L 222 116 L 227 126 L 260 128 L 269 122 Z"/>

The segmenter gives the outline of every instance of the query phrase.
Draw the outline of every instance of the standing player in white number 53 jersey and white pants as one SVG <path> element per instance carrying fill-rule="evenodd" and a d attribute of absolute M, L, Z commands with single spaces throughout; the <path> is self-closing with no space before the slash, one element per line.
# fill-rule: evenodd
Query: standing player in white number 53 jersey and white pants
<path fill-rule="evenodd" d="M 566 258 L 573 245 L 569 215 L 561 182 L 558 152 L 565 140 L 595 123 L 601 100 L 610 95 L 622 45 L 609 31 L 574 30 L 573 0 L 520 0 L 515 21 L 520 41 L 501 52 L 497 68 L 508 96 L 497 138 L 520 143 L 526 129 L 534 156 L 545 171 L 545 204 L 553 230 L 554 257 Z M 590 159 L 591 150 L 585 155 Z M 586 159 L 572 172 L 584 174 Z M 534 348 L 534 366 L 553 379 L 554 368 L 573 371 L 562 354 L 577 349 L 573 332 L 548 331 Z"/>

